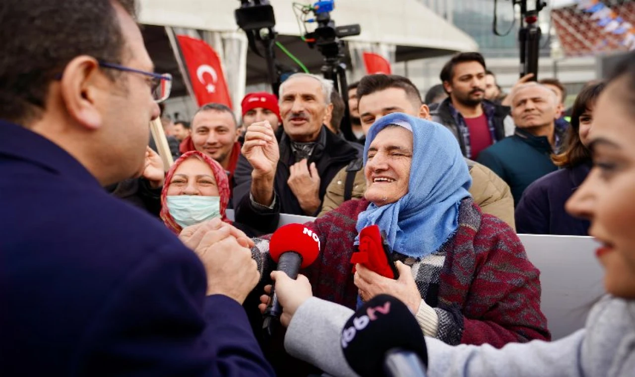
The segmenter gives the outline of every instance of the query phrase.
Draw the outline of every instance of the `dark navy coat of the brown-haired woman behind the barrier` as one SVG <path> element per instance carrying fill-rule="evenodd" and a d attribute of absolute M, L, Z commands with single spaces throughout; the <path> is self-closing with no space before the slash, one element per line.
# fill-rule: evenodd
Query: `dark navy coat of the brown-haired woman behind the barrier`
<path fill-rule="evenodd" d="M 589 165 L 561 169 L 531 183 L 514 217 L 516 231 L 526 234 L 589 235 L 587 220 L 574 218 L 565 203 L 589 174 Z"/>

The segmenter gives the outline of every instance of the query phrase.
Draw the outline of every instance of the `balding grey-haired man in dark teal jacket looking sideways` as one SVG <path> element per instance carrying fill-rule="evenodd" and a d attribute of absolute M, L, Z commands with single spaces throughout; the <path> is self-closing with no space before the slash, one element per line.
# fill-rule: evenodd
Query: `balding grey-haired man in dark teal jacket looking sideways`
<path fill-rule="evenodd" d="M 551 155 L 564 137 L 555 126 L 559 98 L 547 86 L 521 84 L 509 99 L 516 124 L 514 135 L 483 150 L 477 161 L 507 182 L 516 206 L 531 182 L 556 170 Z"/>

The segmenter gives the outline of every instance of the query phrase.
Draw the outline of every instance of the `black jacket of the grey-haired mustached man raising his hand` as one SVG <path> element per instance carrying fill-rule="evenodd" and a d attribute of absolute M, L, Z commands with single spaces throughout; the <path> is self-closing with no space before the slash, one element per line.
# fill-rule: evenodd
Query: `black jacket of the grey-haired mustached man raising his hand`
<path fill-rule="evenodd" d="M 289 185 L 286 183 L 289 179 L 289 167 L 295 163 L 293 152 L 291 152 L 290 139 L 286 133 L 282 134 L 278 145 L 280 148 L 280 160 L 277 163 L 276 178 L 274 180 L 276 206 L 271 211 L 265 211 L 251 205 L 249 192 L 251 190 L 251 171 L 253 168 L 251 168 L 250 163 L 243 155 L 240 156 L 236 172 L 234 173 L 236 185 L 234 186 L 233 200 L 236 221 L 264 232 L 276 230 L 277 221 L 274 220 L 274 216 L 278 213 L 305 215 L 298 199 L 293 195 Z M 361 146 L 354 146 L 352 143 L 333 134 L 325 126 L 322 126 L 322 130 L 318 135 L 318 144 L 309 159 L 309 164 L 315 162 L 318 169 L 320 200 L 324 199 L 326 187 L 328 187 L 338 171 L 344 168 L 351 160 L 361 155 L 359 147 Z M 311 215 L 317 215 L 318 213 L 319 209 L 315 214 Z"/>

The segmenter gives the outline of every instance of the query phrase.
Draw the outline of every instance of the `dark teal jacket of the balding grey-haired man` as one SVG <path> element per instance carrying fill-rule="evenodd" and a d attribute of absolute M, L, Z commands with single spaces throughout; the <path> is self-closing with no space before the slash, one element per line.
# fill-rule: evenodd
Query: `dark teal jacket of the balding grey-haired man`
<path fill-rule="evenodd" d="M 518 206 L 523 191 L 541 176 L 556 170 L 551 161 L 551 144 L 546 136 L 533 136 L 521 128 L 482 150 L 477 162 L 487 166 L 504 180 Z"/>

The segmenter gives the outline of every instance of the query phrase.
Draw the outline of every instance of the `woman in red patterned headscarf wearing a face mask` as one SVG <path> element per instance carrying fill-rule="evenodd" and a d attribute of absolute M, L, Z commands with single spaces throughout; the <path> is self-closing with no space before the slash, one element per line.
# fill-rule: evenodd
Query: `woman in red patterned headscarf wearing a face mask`
<path fill-rule="evenodd" d="M 161 220 L 176 234 L 190 225 L 220 218 L 255 237 L 262 234 L 225 216 L 229 202 L 229 180 L 220 164 L 192 150 L 174 162 L 161 192 Z"/>

